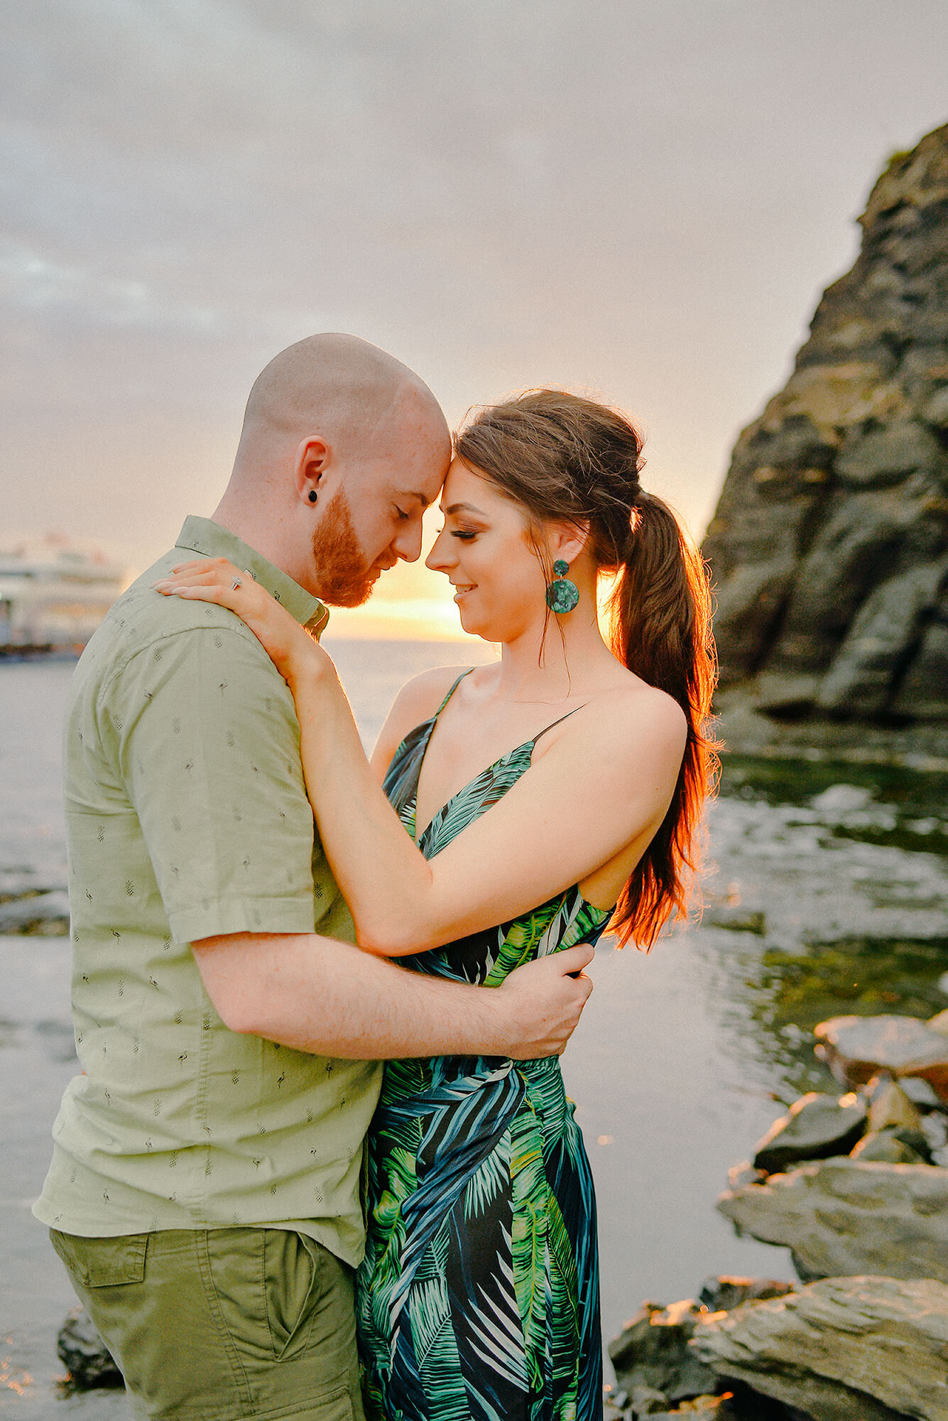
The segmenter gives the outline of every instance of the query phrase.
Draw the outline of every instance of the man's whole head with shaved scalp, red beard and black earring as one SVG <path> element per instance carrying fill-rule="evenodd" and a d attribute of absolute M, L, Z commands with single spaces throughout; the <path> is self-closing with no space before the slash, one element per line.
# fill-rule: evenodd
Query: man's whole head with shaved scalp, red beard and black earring
<path fill-rule="evenodd" d="M 424 381 L 356 335 L 309 335 L 254 381 L 214 519 L 302 587 L 358 605 L 421 549 L 451 436 Z"/>

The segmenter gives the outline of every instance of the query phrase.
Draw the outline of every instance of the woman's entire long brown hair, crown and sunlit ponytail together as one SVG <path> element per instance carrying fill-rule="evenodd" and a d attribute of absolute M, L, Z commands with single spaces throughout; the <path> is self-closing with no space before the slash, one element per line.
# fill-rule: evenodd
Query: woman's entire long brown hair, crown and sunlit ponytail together
<path fill-rule="evenodd" d="M 548 522 L 589 527 L 597 567 L 616 574 L 613 654 L 685 715 L 671 804 L 610 921 L 620 945 L 632 939 L 647 949 L 671 917 L 688 914 L 704 803 L 718 772 L 708 730 L 717 659 L 705 564 L 668 504 L 643 492 L 641 439 L 620 411 L 566 391 L 528 389 L 478 409 L 454 443 L 464 463 L 524 507 L 538 551 Z"/>

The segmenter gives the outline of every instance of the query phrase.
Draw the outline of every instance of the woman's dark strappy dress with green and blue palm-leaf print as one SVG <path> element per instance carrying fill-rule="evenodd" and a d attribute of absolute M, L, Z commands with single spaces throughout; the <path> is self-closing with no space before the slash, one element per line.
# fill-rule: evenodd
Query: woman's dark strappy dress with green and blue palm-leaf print
<path fill-rule="evenodd" d="M 413 837 L 419 773 L 440 709 L 406 736 L 385 780 Z M 507 793 L 536 740 L 439 810 L 419 840 L 426 858 Z M 573 887 L 403 963 L 495 986 L 524 962 L 595 942 L 607 918 Z M 558 1057 L 386 1064 L 368 1141 L 356 1306 L 372 1421 L 602 1415 L 596 1201 Z"/>

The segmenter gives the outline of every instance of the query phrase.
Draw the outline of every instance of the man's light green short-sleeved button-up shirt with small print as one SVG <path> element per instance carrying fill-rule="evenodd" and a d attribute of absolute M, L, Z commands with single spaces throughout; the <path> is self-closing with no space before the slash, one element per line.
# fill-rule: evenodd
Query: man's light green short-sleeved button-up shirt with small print
<path fill-rule="evenodd" d="M 84 1074 L 62 1097 L 34 1212 L 87 1236 L 282 1225 L 358 1263 L 379 1066 L 228 1030 L 190 949 L 226 932 L 353 941 L 284 679 L 233 612 L 150 590 L 194 554 L 247 568 L 315 631 L 328 617 L 240 539 L 192 517 L 79 659 L 64 770 Z"/>

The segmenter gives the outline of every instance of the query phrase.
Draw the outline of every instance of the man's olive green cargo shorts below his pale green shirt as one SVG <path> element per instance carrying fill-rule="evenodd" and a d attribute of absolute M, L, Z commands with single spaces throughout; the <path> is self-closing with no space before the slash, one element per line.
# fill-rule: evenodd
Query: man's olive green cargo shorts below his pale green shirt
<path fill-rule="evenodd" d="M 363 1421 L 352 1270 L 291 1229 L 50 1229 L 135 1417 Z"/>

